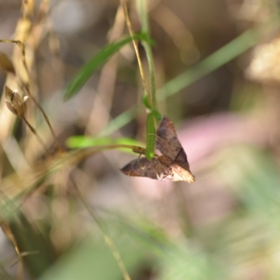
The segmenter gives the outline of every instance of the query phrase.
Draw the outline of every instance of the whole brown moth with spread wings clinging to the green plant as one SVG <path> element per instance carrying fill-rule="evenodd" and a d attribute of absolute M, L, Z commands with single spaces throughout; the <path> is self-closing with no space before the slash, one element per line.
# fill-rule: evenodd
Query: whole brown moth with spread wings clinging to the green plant
<path fill-rule="evenodd" d="M 193 183 L 195 176 L 190 172 L 187 155 L 177 138 L 172 120 L 164 116 L 156 134 L 155 147 L 162 155 L 155 155 L 151 161 L 146 158 L 132 160 L 120 171 L 128 176 Z M 140 155 L 145 153 L 145 149 L 140 147 L 135 148 L 133 151 Z"/>

